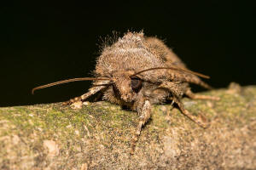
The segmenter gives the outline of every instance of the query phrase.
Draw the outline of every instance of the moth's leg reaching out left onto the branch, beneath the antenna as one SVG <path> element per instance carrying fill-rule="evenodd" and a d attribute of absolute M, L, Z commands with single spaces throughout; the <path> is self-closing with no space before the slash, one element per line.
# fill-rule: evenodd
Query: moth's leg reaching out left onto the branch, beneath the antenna
<path fill-rule="evenodd" d="M 73 99 L 69 99 L 68 101 L 63 102 L 62 105 L 70 105 L 70 104 L 73 104 L 74 102 L 87 99 L 91 95 L 96 94 L 97 92 L 101 91 L 104 88 L 106 88 L 106 86 L 96 86 L 96 87 L 89 88 L 89 91 L 86 94 L 83 94 L 83 95 L 73 98 Z"/>

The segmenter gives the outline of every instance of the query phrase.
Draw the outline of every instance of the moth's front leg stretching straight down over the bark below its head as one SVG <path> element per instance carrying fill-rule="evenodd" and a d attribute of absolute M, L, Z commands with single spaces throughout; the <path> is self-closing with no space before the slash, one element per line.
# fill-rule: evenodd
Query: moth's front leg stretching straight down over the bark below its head
<path fill-rule="evenodd" d="M 131 154 L 134 154 L 135 146 L 137 144 L 137 139 L 142 131 L 143 125 L 148 122 L 150 118 L 151 104 L 148 100 L 146 100 L 143 104 L 143 108 L 140 110 L 141 116 L 139 117 L 139 123 L 137 125 L 136 131 L 131 139 Z"/>

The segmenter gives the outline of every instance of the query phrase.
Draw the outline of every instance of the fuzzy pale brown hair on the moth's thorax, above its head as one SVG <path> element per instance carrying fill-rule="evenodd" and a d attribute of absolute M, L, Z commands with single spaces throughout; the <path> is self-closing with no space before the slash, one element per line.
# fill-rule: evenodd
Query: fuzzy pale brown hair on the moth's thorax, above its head
<path fill-rule="evenodd" d="M 150 53 L 146 45 L 143 32 L 128 32 L 112 46 L 103 49 L 97 59 L 96 74 L 111 75 L 117 71 L 141 71 L 144 68 L 163 66 L 162 59 Z"/>

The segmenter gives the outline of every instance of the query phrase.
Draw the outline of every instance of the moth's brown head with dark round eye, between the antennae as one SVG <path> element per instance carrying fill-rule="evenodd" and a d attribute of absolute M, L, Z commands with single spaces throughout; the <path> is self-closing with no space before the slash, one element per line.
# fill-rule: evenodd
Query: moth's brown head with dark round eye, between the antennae
<path fill-rule="evenodd" d="M 125 102 L 132 102 L 143 88 L 143 81 L 133 71 L 120 71 L 113 74 L 113 92 Z"/>

